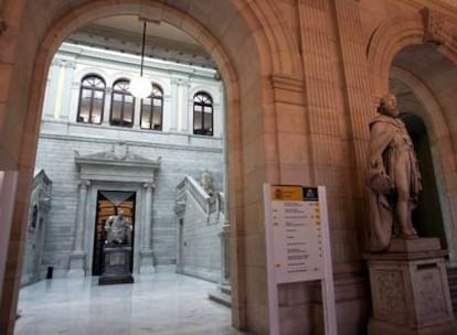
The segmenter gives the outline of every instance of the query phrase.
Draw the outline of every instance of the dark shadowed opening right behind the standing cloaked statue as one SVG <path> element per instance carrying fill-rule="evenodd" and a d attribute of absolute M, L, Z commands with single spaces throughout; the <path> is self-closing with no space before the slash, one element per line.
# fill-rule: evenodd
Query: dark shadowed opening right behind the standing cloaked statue
<path fill-rule="evenodd" d="M 418 206 L 413 212 L 413 221 L 421 237 L 438 237 L 442 248 L 447 248 L 427 129 L 417 116 L 402 114 L 401 118 L 413 140 L 421 171 L 422 192 Z"/>

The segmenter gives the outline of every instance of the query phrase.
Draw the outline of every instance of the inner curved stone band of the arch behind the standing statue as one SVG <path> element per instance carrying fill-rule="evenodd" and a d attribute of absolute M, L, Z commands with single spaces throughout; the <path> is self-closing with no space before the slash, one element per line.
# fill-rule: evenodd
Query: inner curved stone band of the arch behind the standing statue
<path fill-rule="evenodd" d="M 443 108 L 428 87 L 416 76 L 401 67 L 393 66 L 391 76 L 406 84 L 417 100 L 424 107 L 423 109 L 411 112 L 417 115 L 428 130 L 431 137 L 431 151 L 434 170 L 437 174 L 436 183 L 439 190 L 439 202 L 443 210 L 443 221 L 446 231 L 446 241 L 449 249 L 449 260 L 451 263 L 457 261 L 457 218 L 450 208 L 449 197 L 457 183 L 455 177 L 456 161 L 453 148 L 451 137 L 448 129 Z"/>

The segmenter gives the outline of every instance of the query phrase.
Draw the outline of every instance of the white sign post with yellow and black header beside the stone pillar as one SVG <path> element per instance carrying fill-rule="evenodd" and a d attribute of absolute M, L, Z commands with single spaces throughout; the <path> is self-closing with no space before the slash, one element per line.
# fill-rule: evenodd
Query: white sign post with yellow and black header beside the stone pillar
<path fill-rule="evenodd" d="M 325 329 L 337 334 L 326 188 L 264 184 L 268 313 L 280 335 L 278 284 L 320 280 Z"/>

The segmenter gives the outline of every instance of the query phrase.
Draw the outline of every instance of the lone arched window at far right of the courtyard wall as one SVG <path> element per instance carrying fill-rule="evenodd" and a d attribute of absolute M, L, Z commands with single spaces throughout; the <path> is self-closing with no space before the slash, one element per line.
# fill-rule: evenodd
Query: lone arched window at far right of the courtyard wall
<path fill-rule="evenodd" d="M 213 136 L 213 99 L 204 91 L 193 97 L 193 133 Z"/>

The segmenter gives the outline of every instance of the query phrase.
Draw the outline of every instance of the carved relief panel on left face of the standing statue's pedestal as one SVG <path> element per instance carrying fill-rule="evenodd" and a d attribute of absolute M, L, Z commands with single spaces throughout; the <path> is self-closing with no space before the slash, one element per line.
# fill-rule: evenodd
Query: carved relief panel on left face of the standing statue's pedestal
<path fill-rule="evenodd" d="M 374 316 L 396 324 L 406 323 L 403 273 L 398 270 L 373 271 Z"/>

